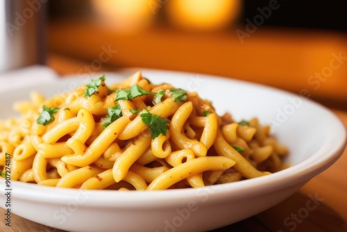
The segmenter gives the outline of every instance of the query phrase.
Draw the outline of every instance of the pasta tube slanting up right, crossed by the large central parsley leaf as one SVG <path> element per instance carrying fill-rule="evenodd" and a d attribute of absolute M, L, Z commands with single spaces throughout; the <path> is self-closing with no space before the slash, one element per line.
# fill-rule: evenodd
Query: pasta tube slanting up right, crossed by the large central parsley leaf
<path fill-rule="evenodd" d="M 173 115 L 178 109 L 178 106 L 179 103 L 175 102 L 173 98 L 168 98 L 149 109 L 149 113 L 166 118 Z M 148 126 L 142 122 L 141 116 L 137 115 L 135 119 L 126 126 L 121 135 L 119 135 L 119 140 L 135 138 L 147 128 Z"/>

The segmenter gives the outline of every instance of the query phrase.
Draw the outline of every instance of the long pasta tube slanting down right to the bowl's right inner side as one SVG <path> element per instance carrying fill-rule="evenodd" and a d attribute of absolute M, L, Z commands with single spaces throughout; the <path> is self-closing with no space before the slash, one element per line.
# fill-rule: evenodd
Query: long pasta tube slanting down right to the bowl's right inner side
<path fill-rule="evenodd" d="M 220 156 L 225 156 L 234 160 L 236 162 L 234 165 L 235 169 L 248 179 L 270 174 L 269 172 L 260 172 L 253 167 L 251 163 L 248 163 L 243 156 L 241 156 L 230 146 L 230 144 L 228 144 L 228 142 L 226 142 L 219 129 L 217 131 L 217 138 L 214 141 L 213 147 Z"/>

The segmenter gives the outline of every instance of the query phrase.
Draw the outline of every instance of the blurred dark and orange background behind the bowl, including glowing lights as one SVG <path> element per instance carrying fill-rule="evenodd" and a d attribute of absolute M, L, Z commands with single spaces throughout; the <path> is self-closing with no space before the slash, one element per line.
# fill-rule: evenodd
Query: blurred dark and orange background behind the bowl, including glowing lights
<path fill-rule="evenodd" d="M 46 15 L 44 64 L 60 75 L 128 67 L 214 74 L 271 85 L 347 110 L 346 1 L 26 4 Z"/>

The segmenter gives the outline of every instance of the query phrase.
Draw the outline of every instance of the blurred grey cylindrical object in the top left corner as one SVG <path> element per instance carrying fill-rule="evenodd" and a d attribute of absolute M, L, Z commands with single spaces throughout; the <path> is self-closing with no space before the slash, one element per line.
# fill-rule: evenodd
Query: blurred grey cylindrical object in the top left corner
<path fill-rule="evenodd" d="M 47 0 L 0 1 L 0 72 L 44 64 Z"/>

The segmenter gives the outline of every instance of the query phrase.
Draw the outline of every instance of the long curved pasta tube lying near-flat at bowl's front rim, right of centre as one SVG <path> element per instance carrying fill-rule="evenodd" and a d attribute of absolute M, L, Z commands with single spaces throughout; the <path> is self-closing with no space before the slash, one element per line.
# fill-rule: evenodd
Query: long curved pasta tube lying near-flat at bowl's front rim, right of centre
<path fill-rule="evenodd" d="M 164 190 L 189 176 L 194 176 L 208 170 L 225 171 L 232 167 L 232 165 L 235 165 L 235 161 L 223 156 L 203 156 L 194 158 L 158 176 L 149 184 L 147 190 Z"/>

